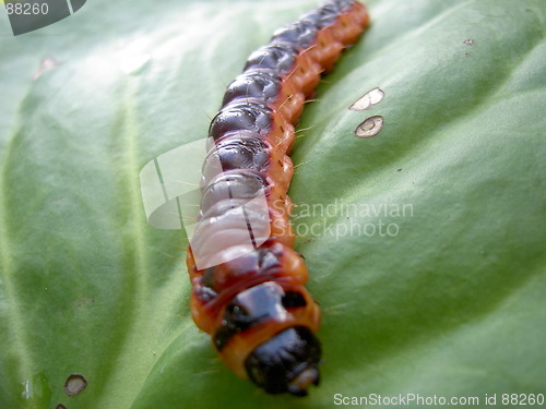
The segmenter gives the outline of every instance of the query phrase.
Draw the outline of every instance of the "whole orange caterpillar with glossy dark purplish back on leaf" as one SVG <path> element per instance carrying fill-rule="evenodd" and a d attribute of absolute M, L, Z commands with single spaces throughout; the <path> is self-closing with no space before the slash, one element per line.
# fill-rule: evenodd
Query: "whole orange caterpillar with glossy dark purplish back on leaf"
<path fill-rule="evenodd" d="M 187 249 L 191 313 L 224 363 L 270 394 L 306 396 L 319 384 L 320 311 L 293 249 L 288 155 L 304 103 L 367 24 L 360 2 L 330 0 L 277 29 L 227 86 L 210 124 L 199 221 Z M 250 225 L 264 216 L 248 203 L 260 192 L 268 231 L 258 245 Z M 251 248 L 239 240 L 249 232 Z M 198 252 L 214 262 L 199 265 Z"/>

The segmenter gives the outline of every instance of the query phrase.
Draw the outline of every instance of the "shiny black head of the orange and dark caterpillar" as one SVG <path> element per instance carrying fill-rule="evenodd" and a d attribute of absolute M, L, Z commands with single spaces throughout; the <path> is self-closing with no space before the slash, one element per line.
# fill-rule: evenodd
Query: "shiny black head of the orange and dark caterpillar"
<path fill-rule="evenodd" d="M 270 394 L 306 396 L 319 384 L 320 341 L 309 328 L 296 326 L 258 346 L 247 358 L 250 380 Z"/>

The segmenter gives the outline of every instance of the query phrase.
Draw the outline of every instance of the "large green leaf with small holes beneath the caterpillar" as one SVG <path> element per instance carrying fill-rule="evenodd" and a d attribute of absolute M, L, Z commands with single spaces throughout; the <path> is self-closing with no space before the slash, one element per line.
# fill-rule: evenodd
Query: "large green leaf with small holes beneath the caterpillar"
<path fill-rule="evenodd" d="M 541 0 L 370 0 L 307 106 L 289 193 L 320 387 L 268 396 L 193 325 L 185 236 L 146 224 L 139 171 L 204 137 L 246 57 L 316 5 L 95 0 L 17 37 L 0 23 L 1 408 L 546 394 Z M 381 132 L 355 137 L 371 116 Z M 70 374 L 87 381 L 71 397 Z"/>

